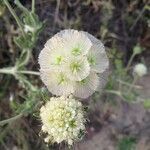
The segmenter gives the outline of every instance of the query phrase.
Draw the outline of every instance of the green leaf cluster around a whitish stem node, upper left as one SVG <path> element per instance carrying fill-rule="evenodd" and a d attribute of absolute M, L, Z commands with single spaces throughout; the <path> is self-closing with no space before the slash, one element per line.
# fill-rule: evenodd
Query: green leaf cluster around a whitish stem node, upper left
<path fill-rule="evenodd" d="M 16 37 L 14 41 L 21 49 L 32 49 L 39 37 L 39 33 L 44 28 L 45 22 L 41 22 L 38 15 L 25 8 L 19 0 L 15 0 L 15 4 L 22 11 L 20 18 L 25 35 Z"/>

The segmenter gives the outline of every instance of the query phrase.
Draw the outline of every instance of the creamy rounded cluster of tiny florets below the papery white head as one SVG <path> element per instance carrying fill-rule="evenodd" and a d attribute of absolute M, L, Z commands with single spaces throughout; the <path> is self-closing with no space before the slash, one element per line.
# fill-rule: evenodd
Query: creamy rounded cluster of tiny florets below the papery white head
<path fill-rule="evenodd" d="M 72 97 L 52 97 L 40 109 L 42 131 L 46 134 L 45 142 L 61 143 L 80 140 L 85 132 L 84 111 L 81 102 Z"/>

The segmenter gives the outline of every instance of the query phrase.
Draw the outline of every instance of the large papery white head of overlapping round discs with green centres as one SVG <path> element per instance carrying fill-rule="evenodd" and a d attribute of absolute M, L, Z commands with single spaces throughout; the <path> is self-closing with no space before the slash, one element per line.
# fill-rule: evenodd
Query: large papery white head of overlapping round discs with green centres
<path fill-rule="evenodd" d="M 46 42 L 39 64 L 42 81 L 50 92 L 80 98 L 87 98 L 101 86 L 99 74 L 109 67 L 102 42 L 72 29 L 62 30 Z"/>

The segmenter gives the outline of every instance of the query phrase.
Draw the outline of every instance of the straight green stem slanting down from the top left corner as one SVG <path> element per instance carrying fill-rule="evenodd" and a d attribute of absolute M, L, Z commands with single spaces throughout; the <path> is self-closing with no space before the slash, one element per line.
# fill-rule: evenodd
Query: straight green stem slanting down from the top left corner
<path fill-rule="evenodd" d="M 16 22 L 17 22 L 17 24 L 18 24 L 18 26 L 22 32 L 22 35 L 25 36 L 25 32 L 23 30 L 22 23 L 21 23 L 20 19 L 18 18 L 18 16 L 16 15 L 13 8 L 11 7 L 11 5 L 9 4 L 8 0 L 4 0 L 4 3 L 7 6 L 7 8 L 9 9 L 9 11 L 11 12 L 11 14 L 13 15 L 13 17 L 15 18 L 15 20 L 16 20 Z"/>

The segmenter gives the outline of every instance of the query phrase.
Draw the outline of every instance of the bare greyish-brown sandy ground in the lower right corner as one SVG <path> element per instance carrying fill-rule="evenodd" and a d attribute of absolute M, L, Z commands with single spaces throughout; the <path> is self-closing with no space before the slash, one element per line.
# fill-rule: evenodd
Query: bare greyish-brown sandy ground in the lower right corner
<path fill-rule="evenodd" d="M 138 84 L 143 87 L 142 95 L 150 98 L 150 76 L 143 77 Z M 116 150 L 117 139 L 122 135 L 137 137 L 136 150 L 150 150 L 150 112 L 141 104 L 120 102 L 117 109 L 112 110 L 108 121 L 100 127 L 100 131 L 84 140 L 76 149 Z"/>

